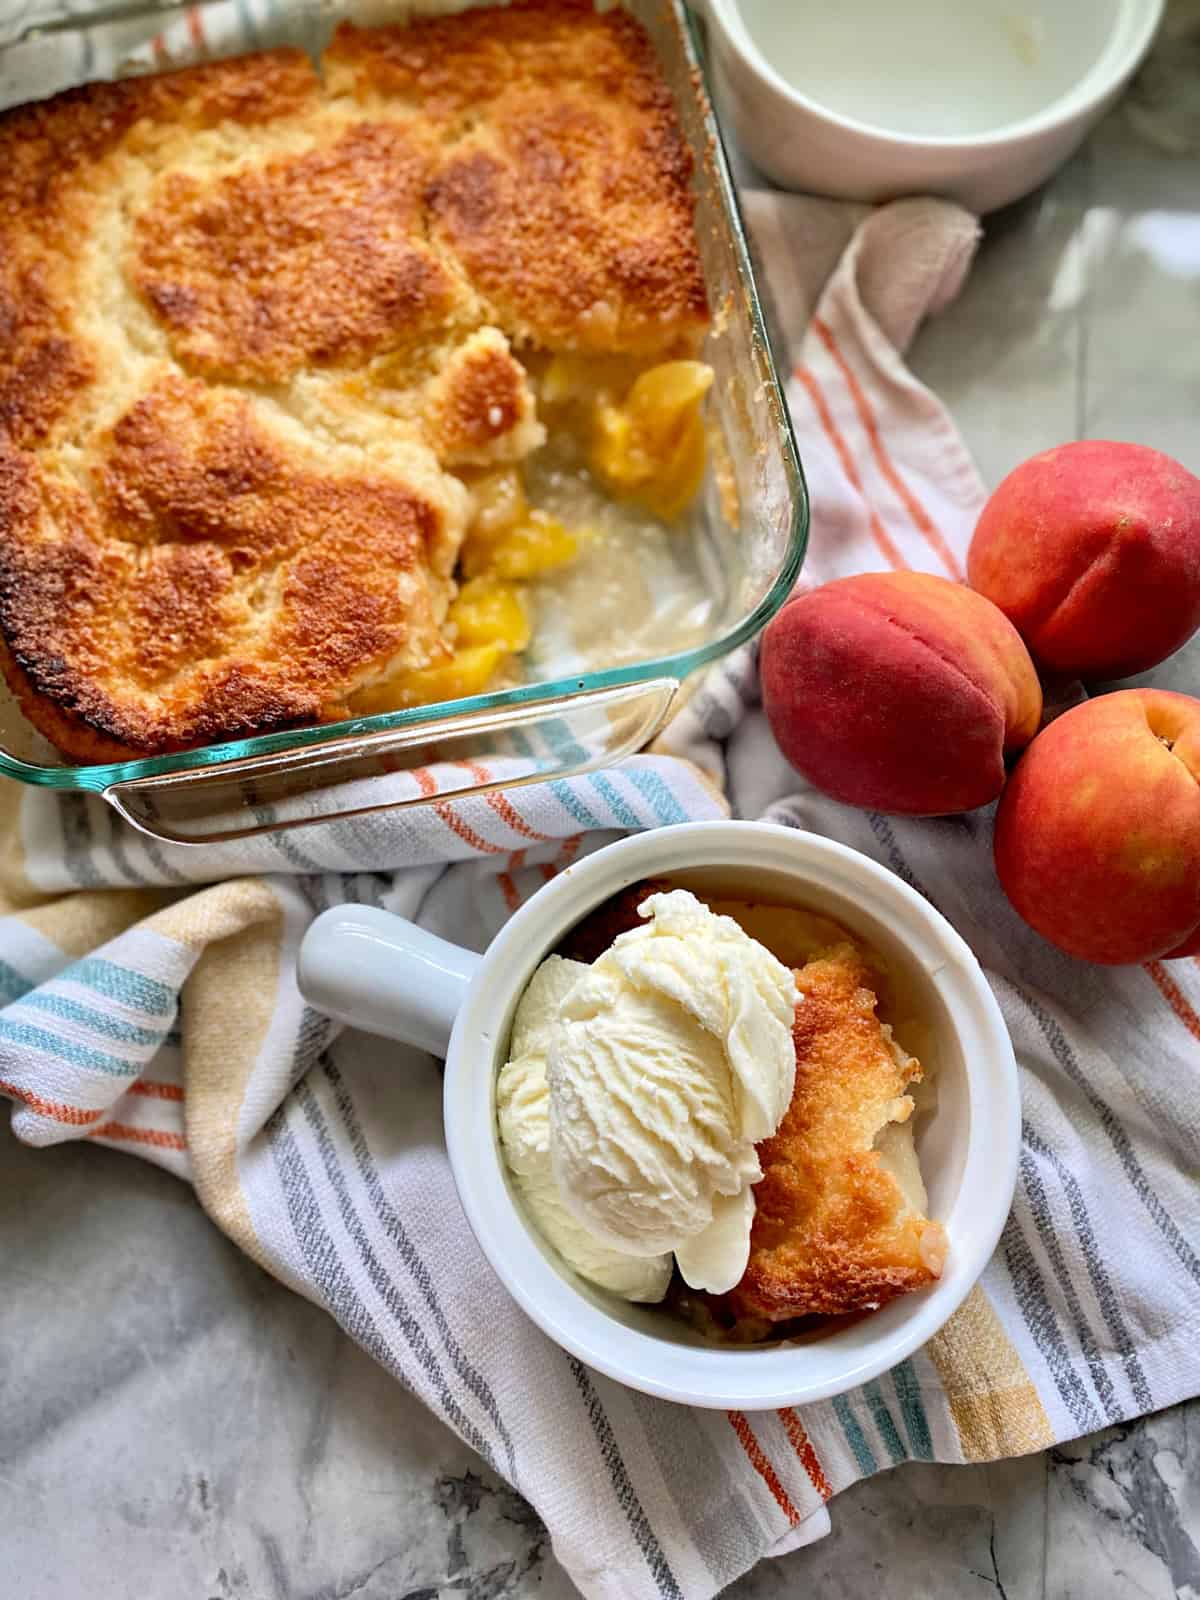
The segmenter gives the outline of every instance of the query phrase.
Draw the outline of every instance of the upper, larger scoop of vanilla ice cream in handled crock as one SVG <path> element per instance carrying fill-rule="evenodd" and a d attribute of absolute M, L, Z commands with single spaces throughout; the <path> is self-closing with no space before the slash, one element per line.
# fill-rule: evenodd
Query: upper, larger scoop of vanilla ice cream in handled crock
<path fill-rule="evenodd" d="M 547 1035 L 557 1190 L 616 1251 L 725 1293 L 750 1248 L 755 1142 L 792 1099 L 795 979 L 674 890 L 566 987 Z"/>

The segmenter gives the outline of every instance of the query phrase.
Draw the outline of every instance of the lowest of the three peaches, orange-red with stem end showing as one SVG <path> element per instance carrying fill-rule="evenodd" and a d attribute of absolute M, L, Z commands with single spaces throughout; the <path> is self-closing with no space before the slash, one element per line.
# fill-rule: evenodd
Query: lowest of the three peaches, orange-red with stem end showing
<path fill-rule="evenodd" d="M 1120 690 L 1051 722 L 1000 800 L 995 867 L 1067 955 L 1200 954 L 1200 699 Z"/>

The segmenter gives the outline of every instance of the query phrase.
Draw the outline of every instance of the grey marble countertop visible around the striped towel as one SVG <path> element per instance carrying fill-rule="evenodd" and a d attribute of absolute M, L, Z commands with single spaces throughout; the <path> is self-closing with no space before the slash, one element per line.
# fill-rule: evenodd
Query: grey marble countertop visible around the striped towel
<path fill-rule="evenodd" d="M 914 350 L 989 482 L 1083 434 L 1200 472 L 1197 0 L 1170 29 L 1054 182 L 989 219 Z M 1157 682 L 1200 693 L 1200 638 Z M 5 1597 L 574 1594 L 520 1496 L 165 1173 L 5 1125 L 0 1285 Z M 1200 1403 L 1021 1461 L 909 1464 L 832 1517 L 726 1594 L 1195 1600 Z"/>

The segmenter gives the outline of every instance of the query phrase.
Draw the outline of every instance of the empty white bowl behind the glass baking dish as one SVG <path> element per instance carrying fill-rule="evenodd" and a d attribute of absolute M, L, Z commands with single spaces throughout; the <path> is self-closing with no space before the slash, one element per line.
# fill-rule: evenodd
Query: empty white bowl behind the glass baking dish
<path fill-rule="evenodd" d="M 1165 0 L 702 0 L 717 107 L 784 189 L 994 211 L 1043 182 Z"/>

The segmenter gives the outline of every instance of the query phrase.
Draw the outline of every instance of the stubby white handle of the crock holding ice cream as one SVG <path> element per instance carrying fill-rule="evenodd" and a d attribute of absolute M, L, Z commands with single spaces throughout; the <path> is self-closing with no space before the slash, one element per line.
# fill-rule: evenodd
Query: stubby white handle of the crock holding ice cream
<path fill-rule="evenodd" d="M 334 906 L 304 934 L 296 982 L 317 1011 L 445 1056 L 478 963 L 376 906 Z"/>

